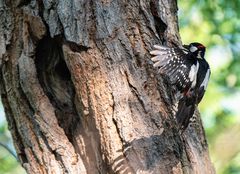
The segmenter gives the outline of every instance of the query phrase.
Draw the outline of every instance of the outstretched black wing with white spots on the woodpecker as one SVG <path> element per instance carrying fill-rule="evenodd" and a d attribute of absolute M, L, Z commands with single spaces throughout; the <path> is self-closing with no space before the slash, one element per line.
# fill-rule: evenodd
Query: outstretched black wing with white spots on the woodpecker
<path fill-rule="evenodd" d="M 155 50 L 150 54 L 154 55 L 151 60 L 154 67 L 159 68 L 160 73 L 166 74 L 172 84 L 180 90 L 189 88 L 193 79 L 189 75 L 189 69 L 193 65 L 189 58 L 187 49 L 169 48 L 166 46 L 154 45 Z"/>

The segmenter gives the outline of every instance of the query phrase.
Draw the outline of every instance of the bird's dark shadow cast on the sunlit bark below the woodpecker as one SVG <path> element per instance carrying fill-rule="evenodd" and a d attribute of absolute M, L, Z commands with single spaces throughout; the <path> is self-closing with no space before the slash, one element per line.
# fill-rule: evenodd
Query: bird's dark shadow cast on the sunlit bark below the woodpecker
<path fill-rule="evenodd" d="M 166 139 L 169 140 L 168 144 L 166 144 Z M 112 164 L 116 173 L 120 171 L 128 173 L 132 170 L 129 166 L 137 168 L 135 172 L 151 171 L 161 173 L 161 169 L 170 172 L 181 163 L 179 159 L 184 158 L 183 144 L 180 138 L 169 135 L 168 131 L 164 131 L 161 135 L 152 135 L 127 142 L 123 154 L 118 156 Z M 128 160 L 130 165 L 125 164 L 125 159 Z M 166 165 L 166 162 L 168 165 Z"/>

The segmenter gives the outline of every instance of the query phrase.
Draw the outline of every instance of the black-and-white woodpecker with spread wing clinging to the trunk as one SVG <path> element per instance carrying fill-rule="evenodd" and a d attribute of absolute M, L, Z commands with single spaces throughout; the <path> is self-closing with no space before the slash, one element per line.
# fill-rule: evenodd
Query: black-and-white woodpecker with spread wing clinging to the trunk
<path fill-rule="evenodd" d="M 182 47 L 154 45 L 154 48 L 150 52 L 153 66 L 175 86 L 179 96 L 175 116 L 185 130 L 208 85 L 211 71 L 204 58 L 206 47 L 194 42 Z"/>

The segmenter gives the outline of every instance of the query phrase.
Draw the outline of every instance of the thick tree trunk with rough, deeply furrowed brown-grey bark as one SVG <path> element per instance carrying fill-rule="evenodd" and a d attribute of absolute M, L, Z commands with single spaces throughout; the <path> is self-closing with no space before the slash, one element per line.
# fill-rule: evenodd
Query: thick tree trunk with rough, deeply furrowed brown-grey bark
<path fill-rule="evenodd" d="M 176 15 L 175 0 L 0 0 L 1 97 L 28 173 L 214 173 L 200 119 L 179 132 L 149 59 L 181 44 Z"/>

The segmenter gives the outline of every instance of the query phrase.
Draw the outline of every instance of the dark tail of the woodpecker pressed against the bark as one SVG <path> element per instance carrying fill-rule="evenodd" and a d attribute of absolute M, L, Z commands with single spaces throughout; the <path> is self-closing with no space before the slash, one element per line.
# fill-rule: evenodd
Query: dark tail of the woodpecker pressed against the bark
<path fill-rule="evenodd" d="M 195 111 L 194 102 L 189 102 L 187 97 L 183 97 L 178 102 L 178 109 L 176 112 L 176 119 L 180 128 L 185 130 L 188 127 L 191 117 Z"/>

